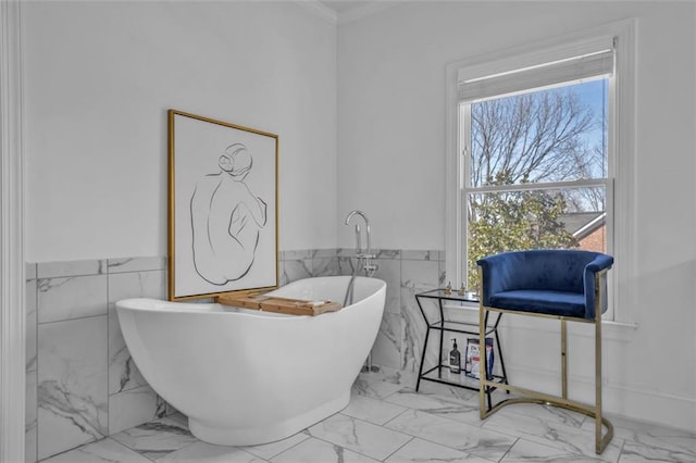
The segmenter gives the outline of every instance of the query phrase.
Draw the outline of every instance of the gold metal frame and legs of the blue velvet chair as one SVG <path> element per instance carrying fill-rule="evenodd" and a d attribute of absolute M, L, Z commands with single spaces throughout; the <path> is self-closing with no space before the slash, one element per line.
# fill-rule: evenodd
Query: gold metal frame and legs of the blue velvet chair
<path fill-rule="evenodd" d="M 552 318 L 560 320 L 561 322 L 561 396 L 554 396 L 545 392 L 539 392 L 531 389 L 525 389 L 517 386 L 512 386 L 510 384 L 500 384 L 488 380 L 486 377 L 487 365 L 486 365 L 486 355 L 484 354 L 484 350 L 482 349 L 481 362 L 478 363 L 480 367 L 480 383 L 478 383 L 478 409 L 481 412 L 481 420 L 485 420 L 493 413 L 497 412 L 501 408 L 506 405 L 512 405 L 515 403 L 540 403 L 540 404 L 549 404 L 554 406 L 559 406 L 562 409 L 571 410 L 573 412 L 583 413 L 595 421 L 595 452 L 600 454 L 609 441 L 611 441 L 613 437 L 613 425 L 602 416 L 601 414 L 601 301 L 602 301 L 602 285 L 601 278 L 606 277 L 606 273 L 608 270 L 604 270 L 597 272 L 595 275 L 595 317 L 594 318 L 582 318 L 582 317 L 572 317 L 572 316 L 561 316 L 561 315 L 548 315 L 533 312 L 522 312 L 514 310 L 506 310 L 498 308 L 490 308 L 483 304 L 483 298 L 478 302 L 478 323 L 480 323 L 480 331 L 478 331 L 478 346 L 485 346 L 485 333 L 486 325 L 488 323 L 488 312 L 499 312 L 499 313 L 509 313 L 515 315 L 526 315 L 526 316 L 536 316 L 542 318 Z M 482 270 L 478 267 L 478 281 L 482 281 Z M 480 295 L 483 295 L 483 291 L 480 288 Z M 575 400 L 571 400 L 568 398 L 568 327 L 567 322 L 580 322 L 580 323 L 591 323 L 595 325 L 595 404 L 589 405 L 583 402 L 579 402 Z M 522 398 L 510 398 L 498 402 L 496 405 L 487 409 L 485 403 L 486 397 L 486 388 L 487 387 L 496 387 L 508 392 L 517 392 L 521 396 L 526 396 Z M 602 436 L 601 426 L 602 424 L 607 427 L 607 433 Z"/>

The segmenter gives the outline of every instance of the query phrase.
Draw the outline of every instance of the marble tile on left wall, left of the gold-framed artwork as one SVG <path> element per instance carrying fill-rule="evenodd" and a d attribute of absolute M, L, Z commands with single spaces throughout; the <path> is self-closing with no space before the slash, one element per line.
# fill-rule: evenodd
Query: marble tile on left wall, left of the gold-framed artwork
<path fill-rule="evenodd" d="M 123 298 L 163 298 L 164 262 L 27 264 L 27 461 L 164 415 L 128 355 L 114 308 Z"/>

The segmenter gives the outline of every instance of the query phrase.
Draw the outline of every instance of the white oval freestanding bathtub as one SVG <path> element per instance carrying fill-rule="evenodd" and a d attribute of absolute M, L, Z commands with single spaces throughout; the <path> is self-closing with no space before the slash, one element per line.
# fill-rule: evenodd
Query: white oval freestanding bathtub
<path fill-rule="evenodd" d="M 307 278 L 271 292 L 344 302 L 350 276 Z M 356 277 L 352 304 L 318 316 L 221 304 L 116 302 L 130 355 L 150 386 L 188 416 L 199 439 L 252 446 L 340 411 L 380 328 L 386 284 Z"/>

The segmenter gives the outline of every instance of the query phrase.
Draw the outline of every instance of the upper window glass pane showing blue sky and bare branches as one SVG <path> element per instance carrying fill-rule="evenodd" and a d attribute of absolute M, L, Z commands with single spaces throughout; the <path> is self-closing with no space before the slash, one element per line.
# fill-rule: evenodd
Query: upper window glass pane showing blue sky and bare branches
<path fill-rule="evenodd" d="M 608 79 L 471 104 L 469 186 L 607 177 Z"/>

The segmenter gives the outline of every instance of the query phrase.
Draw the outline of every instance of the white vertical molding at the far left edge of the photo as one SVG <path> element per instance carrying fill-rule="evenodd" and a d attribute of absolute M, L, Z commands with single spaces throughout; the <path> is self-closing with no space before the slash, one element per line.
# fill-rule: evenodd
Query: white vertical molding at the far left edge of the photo
<path fill-rule="evenodd" d="M 21 4 L 0 0 L 0 461 L 24 461 L 25 289 Z"/>

